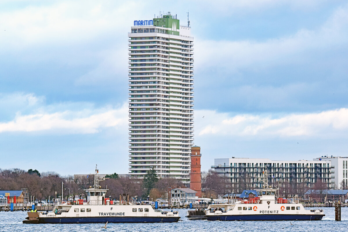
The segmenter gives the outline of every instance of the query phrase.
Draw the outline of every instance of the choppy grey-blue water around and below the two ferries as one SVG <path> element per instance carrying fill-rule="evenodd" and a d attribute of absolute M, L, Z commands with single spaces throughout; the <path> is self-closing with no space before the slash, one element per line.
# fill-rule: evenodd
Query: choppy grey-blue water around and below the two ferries
<path fill-rule="evenodd" d="M 188 221 L 185 217 L 188 209 L 179 209 L 182 221 L 177 223 L 127 223 L 113 224 L 110 223 L 107 229 L 101 228 L 104 224 L 23 224 L 22 221 L 27 217 L 26 212 L 0 212 L 0 232 L 51 232 L 51 231 L 79 231 L 79 232 L 96 232 L 96 231 L 134 231 L 134 232 L 242 232 L 242 231 L 268 231 L 268 232 L 293 232 L 293 231 L 348 231 L 348 207 L 342 208 L 342 221 L 335 221 L 335 209 L 324 209 L 325 217 L 322 221 Z"/>

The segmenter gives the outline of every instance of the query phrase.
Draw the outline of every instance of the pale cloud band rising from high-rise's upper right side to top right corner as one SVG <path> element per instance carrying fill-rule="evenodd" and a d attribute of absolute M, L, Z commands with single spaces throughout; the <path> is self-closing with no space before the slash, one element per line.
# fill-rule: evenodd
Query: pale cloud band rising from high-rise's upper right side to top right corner
<path fill-rule="evenodd" d="M 197 69 L 227 69 L 232 72 L 242 68 L 260 69 L 278 65 L 310 62 L 308 57 L 347 46 L 348 6 L 340 7 L 317 30 L 301 29 L 296 34 L 267 41 L 213 41 L 195 42 Z M 217 55 L 218 54 L 218 55 Z"/>

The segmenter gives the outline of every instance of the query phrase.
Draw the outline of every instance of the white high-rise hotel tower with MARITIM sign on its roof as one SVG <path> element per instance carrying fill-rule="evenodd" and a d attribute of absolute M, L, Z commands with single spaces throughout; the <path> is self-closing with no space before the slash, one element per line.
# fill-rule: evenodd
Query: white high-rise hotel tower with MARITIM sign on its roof
<path fill-rule="evenodd" d="M 190 180 L 193 37 L 170 14 L 134 21 L 129 37 L 129 174 Z"/>

